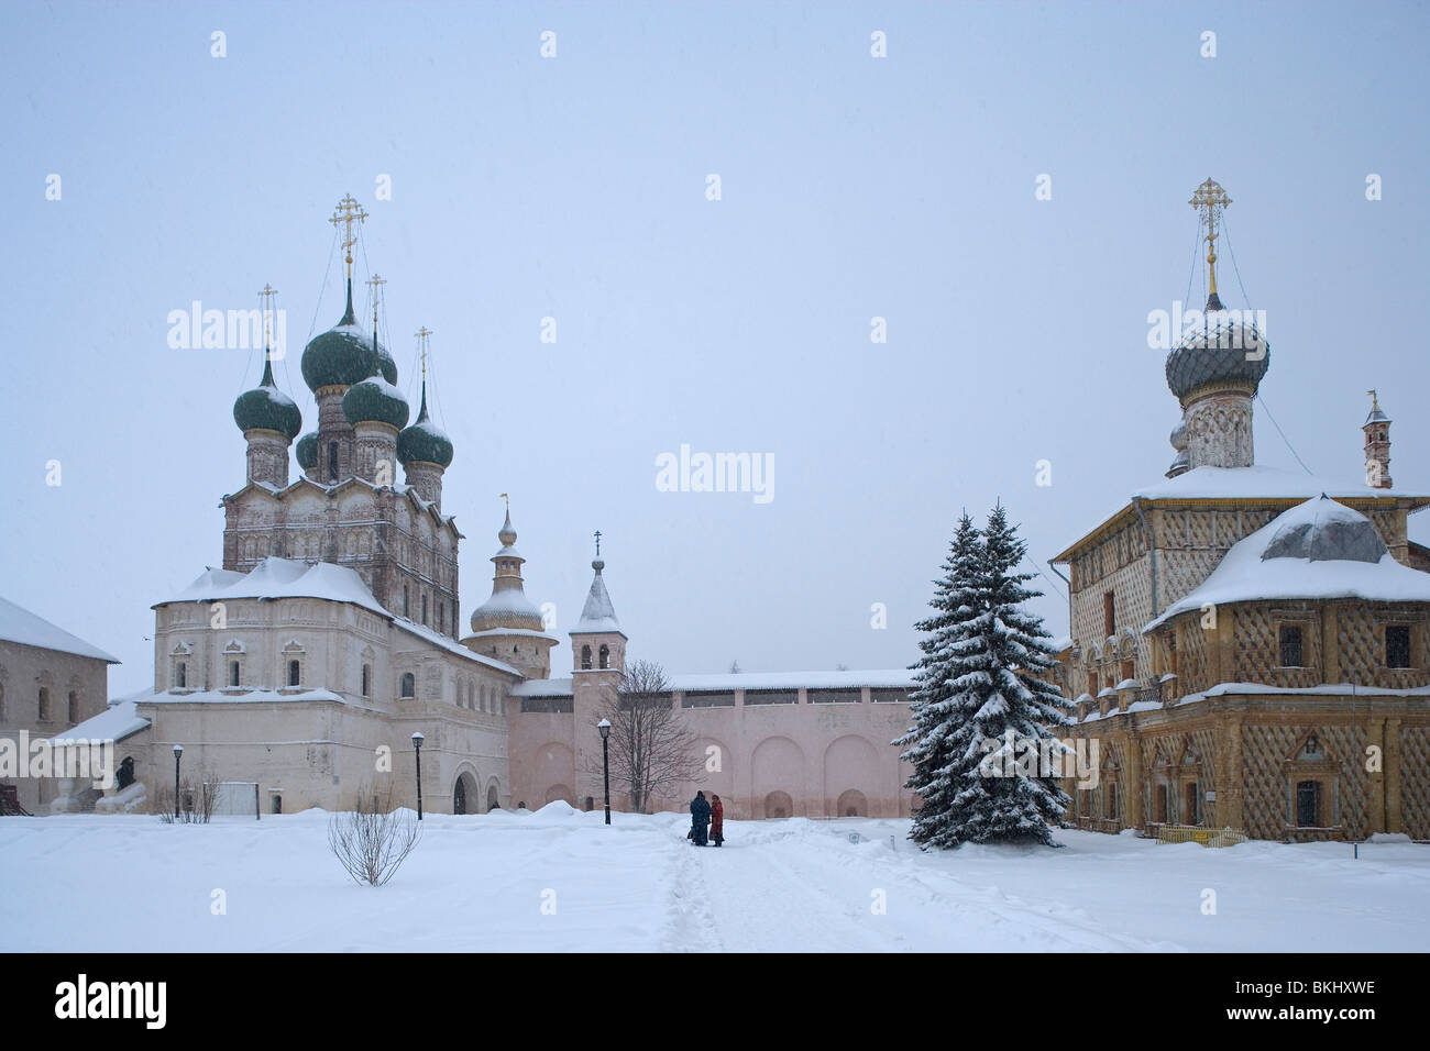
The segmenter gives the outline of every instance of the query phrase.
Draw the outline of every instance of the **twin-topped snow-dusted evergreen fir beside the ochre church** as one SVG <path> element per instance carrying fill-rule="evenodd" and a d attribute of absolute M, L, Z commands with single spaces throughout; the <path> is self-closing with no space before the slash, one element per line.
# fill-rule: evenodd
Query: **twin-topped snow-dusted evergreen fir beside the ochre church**
<path fill-rule="evenodd" d="M 1067 725 L 1071 705 L 1037 678 L 1054 661 L 1041 618 L 1022 608 L 1041 593 L 1018 571 L 1025 551 L 1001 505 L 981 541 L 965 515 L 931 602 L 940 612 L 917 625 L 932 633 L 919 642 L 914 725 L 895 741 L 912 742 L 915 842 L 1051 845 L 1048 822 L 1067 809 L 1041 761 L 1061 756 L 1052 728 Z"/>

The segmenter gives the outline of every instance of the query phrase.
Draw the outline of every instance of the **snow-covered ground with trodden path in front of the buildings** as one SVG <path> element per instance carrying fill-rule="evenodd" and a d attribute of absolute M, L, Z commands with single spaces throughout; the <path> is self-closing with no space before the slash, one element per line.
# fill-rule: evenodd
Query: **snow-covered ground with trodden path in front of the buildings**
<path fill-rule="evenodd" d="M 429 815 L 393 881 L 356 887 L 307 811 L 163 825 L 0 821 L 0 951 L 1423 951 L 1430 847 L 1158 847 L 924 854 L 907 821 Z M 891 844 L 889 837 L 894 837 Z M 222 889 L 226 914 L 210 909 Z M 1216 891 L 1216 915 L 1203 914 Z M 887 912 L 874 907 L 881 899 Z M 543 904 L 546 911 L 543 912 Z M 552 914 L 552 908 L 555 909 Z"/>

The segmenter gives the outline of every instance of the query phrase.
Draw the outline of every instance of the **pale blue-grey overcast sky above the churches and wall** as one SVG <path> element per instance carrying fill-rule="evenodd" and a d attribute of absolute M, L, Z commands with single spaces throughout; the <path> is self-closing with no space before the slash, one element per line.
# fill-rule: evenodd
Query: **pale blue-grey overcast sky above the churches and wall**
<path fill-rule="evenodd" d="M 1427 490 L 1426 30 L 1410 4 L 7 3 L 0 595 L 122 658 L 112 695 L 152 681 L 150 606 L 222 562 L 262 367 L 170 349 L 169 313 L 270 282 L 312 429 L 345 193 L 413 406 L 435 332 L 463 619 L 509 492 L 562 636 L 601 529 L 632 656 L 909 663 L 960 509 L 1001 499 L 1042 566 L 1161 479 L 1147 313 L 1187 295 L 1208 176 L 1291 445 L 1356 480 L 1379 388 L 1396 485 Z M 682 443 L 768 453 L 774 498 L 659 492 Z M 1256 449 L 1300 469 L 1261 406 Z"/>

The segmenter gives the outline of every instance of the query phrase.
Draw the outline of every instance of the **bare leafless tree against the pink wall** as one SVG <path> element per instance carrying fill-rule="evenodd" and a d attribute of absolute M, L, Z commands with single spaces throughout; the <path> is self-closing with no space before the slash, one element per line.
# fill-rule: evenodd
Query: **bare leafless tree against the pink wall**
<path fill-rule="evenodd" d="M 628 663 L 621 681 L 606 688 L 602 715 L 611 721 L 611 779 L 629 794 L 632 811 L 646 814 L 654 799 L 695 778 L 696 738 L 681 719 L 661 665 Z M 601 758 L 588 769 L 599 776 Z"/>

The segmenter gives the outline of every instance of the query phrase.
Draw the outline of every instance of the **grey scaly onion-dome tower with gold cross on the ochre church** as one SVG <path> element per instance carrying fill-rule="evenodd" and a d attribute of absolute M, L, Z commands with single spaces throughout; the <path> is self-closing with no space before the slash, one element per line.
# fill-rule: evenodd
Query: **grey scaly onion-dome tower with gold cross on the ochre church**
<path fill-rule="evenodd" d="M 1171 433 L 1175 478 L 1195 468 L 1250 468 L 1251 403 L 1270 367 L 1270 346 L 1250 312 L 1227 310 L 1217 295 L 1217 223 L 1231 199 L 1208 179 L 1188 202 L 1207 230 L 1207 309 L 1167 355 L 1167 386 L 1181 403 Z"/>

